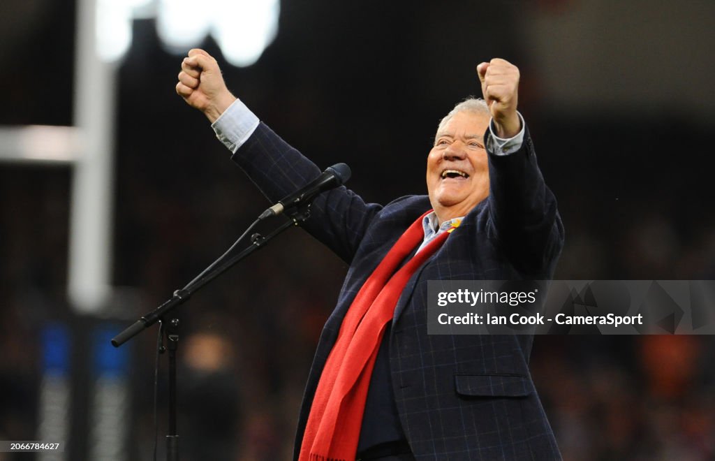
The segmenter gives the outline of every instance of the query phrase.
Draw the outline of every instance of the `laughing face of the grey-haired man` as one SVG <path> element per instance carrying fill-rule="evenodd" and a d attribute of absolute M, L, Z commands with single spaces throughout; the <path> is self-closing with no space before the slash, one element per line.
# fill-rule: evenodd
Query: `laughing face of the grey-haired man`
<path fill-rule="evenodd" d="M 458 111 L 438 129 L 427 157 L 427 190 L 440 223 L 465 216 L 489 194 L 487 114 Z"/>

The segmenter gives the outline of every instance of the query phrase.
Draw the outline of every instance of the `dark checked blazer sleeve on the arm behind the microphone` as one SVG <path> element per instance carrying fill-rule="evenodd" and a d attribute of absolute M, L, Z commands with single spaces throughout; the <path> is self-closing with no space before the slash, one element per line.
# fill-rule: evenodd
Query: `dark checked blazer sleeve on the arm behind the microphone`
<path fill-rule="evenodd" d="M 263 123 L 232 159 L 272 203 L 321 173 L 320 168 Z M 341 186 L 315 198 L 310 217 L 302 227 L 350 263 L 365 230 L 380 209 L 380 205 L 365 204 L 358 194 Z"/>

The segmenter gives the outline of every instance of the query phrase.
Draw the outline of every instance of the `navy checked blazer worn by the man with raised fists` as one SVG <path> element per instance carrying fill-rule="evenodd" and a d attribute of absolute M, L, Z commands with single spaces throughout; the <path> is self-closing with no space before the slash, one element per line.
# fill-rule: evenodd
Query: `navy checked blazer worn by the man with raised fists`
<path fill-rule="evenodd" d="M 528 129 L 518 152 L 488 157 L 489 196 L 410 279 L 383 339 L 390 342 L 400 422 L 417 460 L 561 459 L 528 369 L 533 337 L 427 334 L 428 280 L 551 279 L 563 247 L 556 199 L 544 184 Z M 232 158 L 271 202 L 321 172 L 262 123 Z M 400 235 L 430 208 L 427 196 L 366 204 L 345 187 L 313 202 L 303 227 L 350 268 L 317 345 L 295 459 L 347 308 Z"/>

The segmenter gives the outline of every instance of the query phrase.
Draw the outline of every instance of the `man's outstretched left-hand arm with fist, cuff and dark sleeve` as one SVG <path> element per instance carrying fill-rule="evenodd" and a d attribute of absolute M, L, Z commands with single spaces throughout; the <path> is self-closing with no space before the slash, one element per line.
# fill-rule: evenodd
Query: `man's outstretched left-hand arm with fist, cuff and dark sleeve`
<path fill-rule="evenodd" d="M 275 203 L 308 184 L 321 169 L 277 136 L 227 89 L 217 61 L 206 51 L 192 49 L 182 61 L 179 96 L 202 111 L 232 159 L 260 191 Z M 225 131 L 221 131 L 221 127 Z M 365 204 L 357 194 L 339 187 L 317 196 L 304 227 L 346 262 L 352 260 L 378 204 Z"/>

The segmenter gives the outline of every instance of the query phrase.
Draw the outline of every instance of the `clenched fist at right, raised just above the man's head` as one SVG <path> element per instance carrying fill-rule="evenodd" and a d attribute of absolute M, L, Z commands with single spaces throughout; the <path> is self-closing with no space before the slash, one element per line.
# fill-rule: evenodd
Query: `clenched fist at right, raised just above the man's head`
<path fill-rule="evenodd" d="M 519 69 L 504 59 L 495 58 L 477 66 L 482 94 L 489 105 L 496 135 L 511 138 L 521 131 L 516 113 L 519 89 Z"/>

